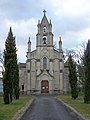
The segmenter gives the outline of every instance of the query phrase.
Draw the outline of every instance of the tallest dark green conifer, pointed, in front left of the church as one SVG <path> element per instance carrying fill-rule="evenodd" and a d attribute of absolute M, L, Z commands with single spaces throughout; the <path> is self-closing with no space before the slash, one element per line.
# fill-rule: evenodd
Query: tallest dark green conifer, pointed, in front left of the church
<path fill-rule="evenodd" d="M 14 87 L 15 81 L 17 81 L 16 78 L 18 78 L 16 44 L 15 37 L 13 37 L 11 27 L 5 42 L 4 68 L 5 68 L 5 71 L 3 73 L 4 103 L 9 104 L 10 102 L 12 102 L 12 97 L 15 91 Z M 19 87 L 19 85 L 17 86 Z"/>

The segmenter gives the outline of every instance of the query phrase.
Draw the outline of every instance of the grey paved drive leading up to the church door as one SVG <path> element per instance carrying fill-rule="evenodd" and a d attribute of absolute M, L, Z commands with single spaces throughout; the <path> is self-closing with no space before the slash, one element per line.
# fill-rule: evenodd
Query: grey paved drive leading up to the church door
<path fill-rule="evenodd" d="M 36 96 L 21 120 L 82 120 L 51 95 Z"/>

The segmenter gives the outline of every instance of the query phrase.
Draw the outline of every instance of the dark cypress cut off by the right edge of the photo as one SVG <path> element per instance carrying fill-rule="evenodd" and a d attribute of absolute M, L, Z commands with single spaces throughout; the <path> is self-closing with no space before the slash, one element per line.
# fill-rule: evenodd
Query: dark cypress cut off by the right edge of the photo
<path fill-rule="evenodd" d="M 88 40 L 87 48 L 85 50 L 84 67 L 85 67 L 84 103 L 89 103 L 90 101 L 90 40 Z"/>

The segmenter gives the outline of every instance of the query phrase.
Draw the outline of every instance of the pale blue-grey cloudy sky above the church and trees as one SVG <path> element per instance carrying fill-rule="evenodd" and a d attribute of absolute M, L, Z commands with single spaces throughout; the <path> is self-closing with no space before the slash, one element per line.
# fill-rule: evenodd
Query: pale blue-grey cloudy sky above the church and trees
<path fill-rule="evenodd" d="M 11 26 L 18 62 L 25 62 L 29 36 L 35 49 L 37 23 L 44 9 L 52 21 L 54 41 L 58 43 L 61 36 L 63 49 L 76 48 L 90 38 L 90 0 L 0 0 L 0 50 Z"/>

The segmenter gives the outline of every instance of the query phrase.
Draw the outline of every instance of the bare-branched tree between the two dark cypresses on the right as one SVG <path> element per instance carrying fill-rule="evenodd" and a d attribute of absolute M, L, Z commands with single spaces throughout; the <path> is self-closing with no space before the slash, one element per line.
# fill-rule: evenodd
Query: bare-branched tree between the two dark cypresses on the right
<path fill-rule="evenodd" d="M 86 43 L 82 42 L 81 45 L 78 46 L 78 48 L 76 49 L 65 49 L 64 50 L 64 58 L 65 60 L 67 60 L 67 58 L 69 57 L 69 55 L 71 55 L 73 57 L 73 59 L 76 62 L 76 67 L 77 67 L 77 72 L 78 72 L 78 84 L 80 86 L 79 90 L 83 90 L 84 88 L 84 80 L 85 80 L 85 76 L 84 76 L 84 51 L 86 48 Z"/>

